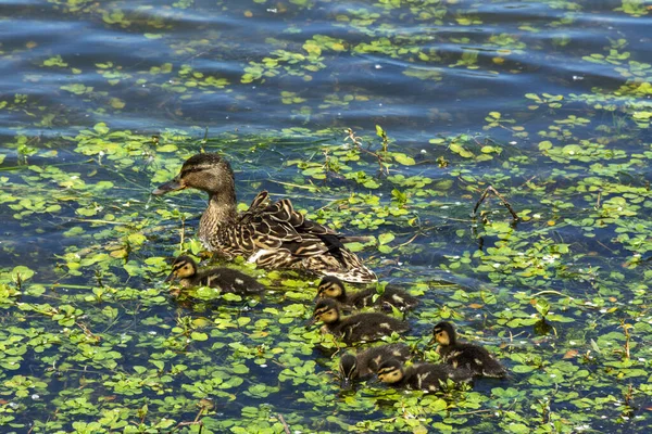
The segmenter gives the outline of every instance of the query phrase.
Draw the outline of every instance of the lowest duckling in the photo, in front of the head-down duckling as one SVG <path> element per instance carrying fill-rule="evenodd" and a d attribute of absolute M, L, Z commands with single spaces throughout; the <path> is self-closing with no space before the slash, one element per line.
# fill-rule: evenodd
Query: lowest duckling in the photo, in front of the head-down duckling
<path fill-rule="evenodd" d="M 419 363 L 403 368 L 397 359 L 385 360 L 377 371 L 378 380 L 393 387 L 412 391 L 437 392 L 450 379 L 455 383 L 471 381 L 473 372 L 467 369 L 453 369 L 450 365 Z"/>

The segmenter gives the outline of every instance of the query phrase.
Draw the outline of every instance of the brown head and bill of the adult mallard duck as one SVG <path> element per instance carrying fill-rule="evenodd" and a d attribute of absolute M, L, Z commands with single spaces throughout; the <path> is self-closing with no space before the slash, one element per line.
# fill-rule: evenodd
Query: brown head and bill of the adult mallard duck
<path fill-rule="evenodd" d="M 236 200 L 234 171 L 228 162 L 217 154 L 197 154 L 186 159 L 179 174 L 170 182 L 152 191 L 161 195 L 183 189 L 198 189 L 210 195 L 217 193 Z"/>

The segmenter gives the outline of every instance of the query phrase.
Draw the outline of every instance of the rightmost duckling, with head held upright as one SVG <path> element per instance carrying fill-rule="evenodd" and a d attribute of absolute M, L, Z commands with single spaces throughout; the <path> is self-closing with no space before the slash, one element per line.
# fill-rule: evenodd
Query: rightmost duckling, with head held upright
<path fill-rule="evenodd" d="M 432 329 L 432 343 L 439 343 L 437 352 L 453 368 L 464 368 L 477 376 L 503 378 L 507 370 L 487 349 L 479 345 L 457 342 L 453 324 L 442 321 Z"/>

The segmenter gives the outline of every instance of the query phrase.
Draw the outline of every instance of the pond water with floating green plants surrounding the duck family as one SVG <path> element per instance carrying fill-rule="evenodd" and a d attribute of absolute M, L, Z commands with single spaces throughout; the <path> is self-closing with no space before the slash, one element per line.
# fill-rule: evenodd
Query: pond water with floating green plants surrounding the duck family
<path fill-rule="evenodd" d="M 649 2 L 1 4 L 0 431 L 652 429 Z M 342 391 L 318 278 L 171 292 L 205 197 L 150 192 L 203 151 L 369 237 L 415 361 L 447 319 L 510 376 Z"/>

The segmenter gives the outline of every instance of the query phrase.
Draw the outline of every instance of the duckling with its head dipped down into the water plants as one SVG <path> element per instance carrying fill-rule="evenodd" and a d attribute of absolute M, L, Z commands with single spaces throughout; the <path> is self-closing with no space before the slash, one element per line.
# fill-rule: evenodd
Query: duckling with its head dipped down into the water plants
<path fill-rule="evenodd" d="M 355 380 L 376 373 L 378 367 L 390 358 L 408 361 L 410 358 L 410 347 L 405 344 L 386 344 L 374 346 L 356 355 L 351 353 L 344 354 L 340 358 L 342 386 L 346 387 Z"/>

